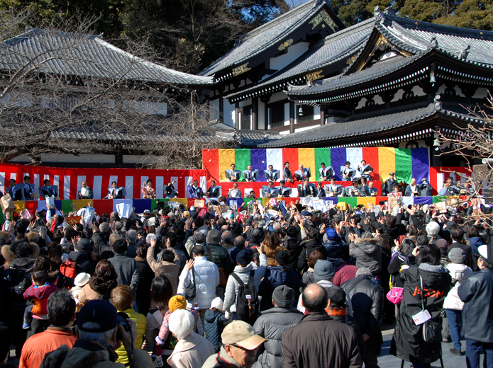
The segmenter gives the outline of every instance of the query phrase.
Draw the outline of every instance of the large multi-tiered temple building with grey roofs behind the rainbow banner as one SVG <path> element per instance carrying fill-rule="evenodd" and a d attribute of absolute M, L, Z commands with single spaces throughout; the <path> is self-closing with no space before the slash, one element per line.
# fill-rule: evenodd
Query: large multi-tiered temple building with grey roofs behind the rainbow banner
<path fill-rule="evenodd" d="M 487 110 L 492 41 L 392 8 L 345 28 L 330 2 L 314 0 L 245 35 L 203 74 L 216 80 L 209 99 L 226 125 L 265 130 L 245 148 L 430 147 L 431 166 L 461 166 L 436 132 L 482 123 L 472 110 Z"/>

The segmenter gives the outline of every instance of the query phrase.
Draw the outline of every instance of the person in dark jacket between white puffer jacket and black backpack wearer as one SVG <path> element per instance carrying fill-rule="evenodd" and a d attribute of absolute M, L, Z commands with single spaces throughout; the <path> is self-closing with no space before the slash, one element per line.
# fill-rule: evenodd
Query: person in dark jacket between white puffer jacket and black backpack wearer
<path fill-rule="evenodd" d="M 229 256 L 226 248 L 221 246 L 221 231 L 217 229 L 211 229 L 206 236 L 206 245 L 204 246 L 206 251 L 206 258 L 212 263 L 216 263 L 219 270 L 219 276 L 221 280 L 226 280 L 228 272 L 233 268 L 233 261 Z M 223 299 L 224 287 L 226 284 L 220 282 L 216 287 L 216 296 Z"/>

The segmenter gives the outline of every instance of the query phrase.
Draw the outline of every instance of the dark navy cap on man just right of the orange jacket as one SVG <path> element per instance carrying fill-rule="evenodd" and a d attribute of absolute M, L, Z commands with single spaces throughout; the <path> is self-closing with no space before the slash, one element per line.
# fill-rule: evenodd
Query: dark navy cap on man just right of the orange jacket
<path fill-rule="evenodd" d="M 99 328 L 84 328 L 86 322 L 94 322 Z M 77 316 L 77 328 L 86 332 L 106 332 L 116 327 L 116 308 L 109 301 L 96 299 L 89 300 L 80 309 Z"/>

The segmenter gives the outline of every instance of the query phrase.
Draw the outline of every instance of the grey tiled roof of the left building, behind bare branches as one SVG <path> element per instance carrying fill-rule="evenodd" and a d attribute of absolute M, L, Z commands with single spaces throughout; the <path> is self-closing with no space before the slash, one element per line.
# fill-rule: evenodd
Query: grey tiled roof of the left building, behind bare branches
<path fill-rule="evenodd" d="M 0 68 L 18 70 L 35 59 L 38 71 L 158 84 L 208 86 L 214 80 L 146 62 L 104 41 L 100 36 L 31 29 L 1 45 Z M 34 64 L 32 64 L 34 65 Z"/>

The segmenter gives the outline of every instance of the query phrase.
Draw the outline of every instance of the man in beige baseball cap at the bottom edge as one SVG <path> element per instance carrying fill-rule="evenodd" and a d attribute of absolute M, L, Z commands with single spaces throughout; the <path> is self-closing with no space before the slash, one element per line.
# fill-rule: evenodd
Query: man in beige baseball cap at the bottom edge
<path fill-rule="evenodd" d="M 233 321 L 221 333 L 221 350 L 211 355 L 202 368 L 251 368 L 258 347 L 265 341 L 248 323 Z"/>

